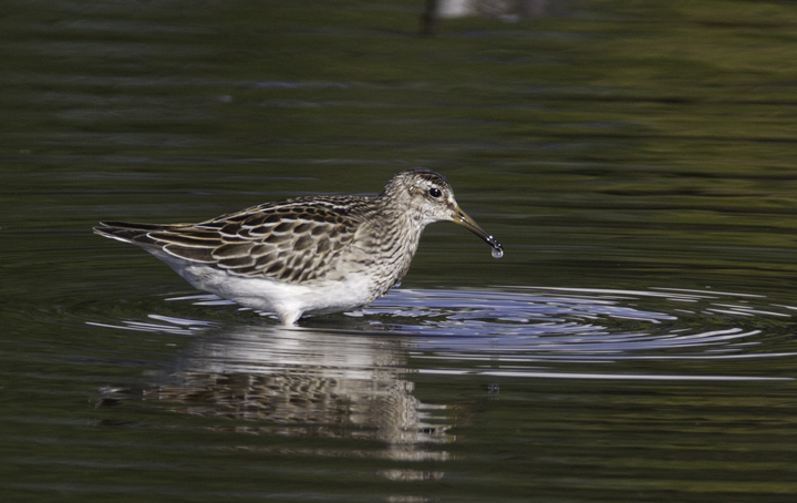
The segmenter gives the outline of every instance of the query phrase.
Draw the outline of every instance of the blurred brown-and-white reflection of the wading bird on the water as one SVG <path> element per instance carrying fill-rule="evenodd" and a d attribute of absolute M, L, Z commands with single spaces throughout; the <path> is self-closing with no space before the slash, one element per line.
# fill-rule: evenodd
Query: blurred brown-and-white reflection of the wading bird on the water
<path fill-rule="evenodd" d="M 362 438 L 390 443 L 391 456 L 445 456 L 417 449 L 452 439 L 442 422 L 446 408 L 421 403 L 414 383 L 402 379 L 404 351 L 396 340 L 366 335 L 275 327 L 213 333 L 144 399 L 252 422 L 238 431 Z"/>

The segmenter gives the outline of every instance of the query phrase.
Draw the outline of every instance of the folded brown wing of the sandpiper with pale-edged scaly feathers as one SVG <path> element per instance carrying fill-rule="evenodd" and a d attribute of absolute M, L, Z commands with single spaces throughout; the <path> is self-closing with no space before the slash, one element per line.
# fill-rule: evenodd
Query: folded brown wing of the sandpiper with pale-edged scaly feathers
<path fill-rule="evenodd" d="M 104 223 L 95 232 L 230 274 L 289 283 L 333 271 L 361 220 L 337 197 L 268 203 L 186 225 Z"/>

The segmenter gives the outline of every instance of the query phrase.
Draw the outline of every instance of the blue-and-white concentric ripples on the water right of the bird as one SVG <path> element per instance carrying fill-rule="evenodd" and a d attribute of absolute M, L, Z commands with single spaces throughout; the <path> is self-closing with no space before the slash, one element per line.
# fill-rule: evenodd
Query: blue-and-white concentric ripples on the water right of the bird
<path fill-rule="evenodd" d="M 769 352 L 793 307 L 744 294 L 522 288 L 397 290 L 351 314 L 413 333 L 421 350 L 548 358 L 748 358 Z M 753 348 L 753 346 L 764 346 Z"/>

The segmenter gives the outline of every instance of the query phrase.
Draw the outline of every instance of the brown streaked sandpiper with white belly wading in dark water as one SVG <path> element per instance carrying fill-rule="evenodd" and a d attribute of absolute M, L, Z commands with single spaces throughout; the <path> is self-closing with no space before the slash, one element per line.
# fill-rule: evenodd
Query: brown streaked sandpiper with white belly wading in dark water
<path fill-rule="evenodd" d="M 260 311 L 283 325 L 302 315 L 365 306 L 410 269 L 424 227 L 451 220 L 504 247 L 459 209 L 448 181 L 416 167 L 382 194 L 315 196 L 265 203 L 199 224 L 103 222 L 94 232 L 132 243 L 194 287 Z"/>

